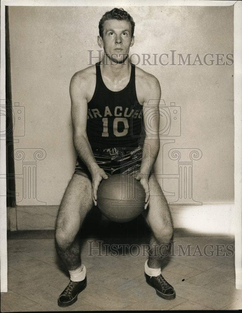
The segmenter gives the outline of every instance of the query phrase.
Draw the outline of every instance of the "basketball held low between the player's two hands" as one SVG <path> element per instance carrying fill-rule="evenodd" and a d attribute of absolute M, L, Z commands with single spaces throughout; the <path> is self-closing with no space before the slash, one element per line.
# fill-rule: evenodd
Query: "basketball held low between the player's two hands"
<path fill-rule="evenodd" d="M 144 210 L 145 190 L 134 177 L 114 174 L 100 183 L 97 205 L 111 221 L 129 222 Z"/>

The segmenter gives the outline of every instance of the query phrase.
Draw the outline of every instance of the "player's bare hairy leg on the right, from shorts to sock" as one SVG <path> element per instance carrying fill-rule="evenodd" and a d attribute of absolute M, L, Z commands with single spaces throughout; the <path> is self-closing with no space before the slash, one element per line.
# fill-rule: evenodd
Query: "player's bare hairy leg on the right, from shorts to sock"
<path fill-rule="evenodd" d="M 150 183 L 150 203 L 143 215 L 152 230 L 148 266 L 155 269 L 161 266 L 169 253 L 173 226 L 170 209 L 159 183 L 152 177 Z"/>

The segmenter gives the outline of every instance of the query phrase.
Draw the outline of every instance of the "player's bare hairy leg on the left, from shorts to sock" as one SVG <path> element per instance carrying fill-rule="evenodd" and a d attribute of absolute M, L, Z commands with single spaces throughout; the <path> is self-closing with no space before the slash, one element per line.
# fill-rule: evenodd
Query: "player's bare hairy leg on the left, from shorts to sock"
<path fill-rule="evenodd" d="M 81 249 L 77 233 L 93 206 L 92 182 L 74 174 L 62 198 L 56 219 L 56 250 L 68 270 L 81 265 Z"/>

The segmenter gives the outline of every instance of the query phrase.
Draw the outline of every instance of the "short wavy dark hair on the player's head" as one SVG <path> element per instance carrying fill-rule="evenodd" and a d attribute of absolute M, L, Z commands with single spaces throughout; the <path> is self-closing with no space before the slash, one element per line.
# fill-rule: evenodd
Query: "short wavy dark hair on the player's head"
<path fill-rule="evenodd" d="M 105 21 L 107 20 L 111 20 L 111 19 L 117 19 L 119 21 L 128 21 L 131 24 L 131 37 L 133 37 L 134 35 L 134 20 L 132 18 L 132 16 L 129 15 L 128 12 L 124 11 L 124 9 L 120 8 L 114 8 L 111 11 L 107 11 L 103 17 L 100 19 L 99 22 L 99 35 L 103 38 L 103 24 Z"/>

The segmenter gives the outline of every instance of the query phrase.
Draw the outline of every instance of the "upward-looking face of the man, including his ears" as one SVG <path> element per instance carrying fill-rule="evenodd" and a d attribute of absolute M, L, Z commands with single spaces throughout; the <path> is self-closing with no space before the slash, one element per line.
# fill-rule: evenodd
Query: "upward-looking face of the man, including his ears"
<path fill-rule="evenodd" d="M 103 24 L 103 38 L 97 37 L 97 42 L 108 58 L 122 63 L 129 54 L 129 47 L 134 44 L 131 37 L 131 24 L 128 21 L 116 19 L 107 20 Z"/>

